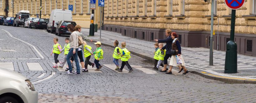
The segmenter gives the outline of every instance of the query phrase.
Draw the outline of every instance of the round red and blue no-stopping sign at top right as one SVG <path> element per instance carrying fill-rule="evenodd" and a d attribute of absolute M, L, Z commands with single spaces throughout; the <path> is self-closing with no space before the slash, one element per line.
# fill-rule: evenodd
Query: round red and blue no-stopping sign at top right
<path fill-rule="evenodd" d="M 245 0 L 225 0 L 225 4 L 233 10 L 239 9 L 244 5 Z"/>

